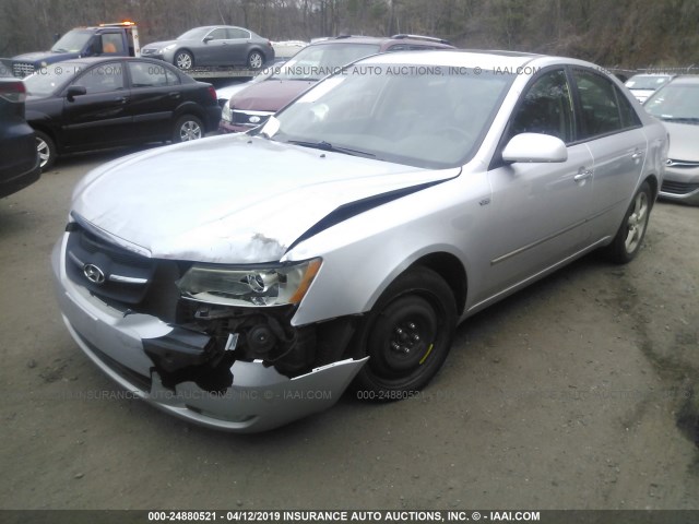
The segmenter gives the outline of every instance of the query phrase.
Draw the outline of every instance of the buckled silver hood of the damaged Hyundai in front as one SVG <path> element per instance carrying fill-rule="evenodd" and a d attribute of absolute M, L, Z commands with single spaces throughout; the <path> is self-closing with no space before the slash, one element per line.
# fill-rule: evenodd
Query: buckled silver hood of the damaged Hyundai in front
<path fill-rule="evenodd" d="M 93 170 L 75 188 L 73 213 L 154 258 L 272 262 L 339 207 L 358 202 L 366 210 L 366 199 L 418 190 L 459 171 L 223 135 Z"/>

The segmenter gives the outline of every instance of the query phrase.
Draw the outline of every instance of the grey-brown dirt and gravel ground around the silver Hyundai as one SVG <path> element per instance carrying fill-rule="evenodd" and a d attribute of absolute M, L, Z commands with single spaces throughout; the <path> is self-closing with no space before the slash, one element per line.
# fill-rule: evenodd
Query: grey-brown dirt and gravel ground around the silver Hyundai
<path fill-rule="evenodd" d="M 699 209 L 466 321 L 422 395 L 256 436 L 127 398 L 60 320 L 76 156 L 0 200 L 1 509 L 699 509 Z"/>

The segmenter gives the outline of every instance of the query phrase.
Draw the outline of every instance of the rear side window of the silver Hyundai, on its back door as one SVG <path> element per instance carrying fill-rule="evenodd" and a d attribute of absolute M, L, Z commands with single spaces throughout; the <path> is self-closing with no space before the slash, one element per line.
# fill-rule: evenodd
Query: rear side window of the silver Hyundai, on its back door
<path fill-rule="evenodd" d="M 572 75 L 580 97 L 582 140 L 639 126 L 638 115 L 612 81 L 581 69 L 574 69 Z"/>

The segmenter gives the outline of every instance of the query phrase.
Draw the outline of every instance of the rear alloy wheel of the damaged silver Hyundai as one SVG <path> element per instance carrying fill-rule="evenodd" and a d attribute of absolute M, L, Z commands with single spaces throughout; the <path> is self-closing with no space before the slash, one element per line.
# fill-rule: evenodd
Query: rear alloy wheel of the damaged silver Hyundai
<path fill-rule="evenodd" d="M 651 187 L 643 182 L 624 215 L 614 241 L 607 247 L 607 254 L 613 262 L 626 264 L 636 258 L 645 236 L 652 207 Z"/>

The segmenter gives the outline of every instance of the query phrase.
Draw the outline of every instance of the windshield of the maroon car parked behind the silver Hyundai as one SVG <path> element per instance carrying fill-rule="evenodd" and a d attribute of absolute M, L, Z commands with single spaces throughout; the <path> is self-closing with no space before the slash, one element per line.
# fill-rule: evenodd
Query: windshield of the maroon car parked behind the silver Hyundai
<path fill-rule="evenodd" d="M 277 80 L 320 80 L 343 66 L 379 52 L 377 44 L 323 44 L 298 51 L 279 71 Z"/>

